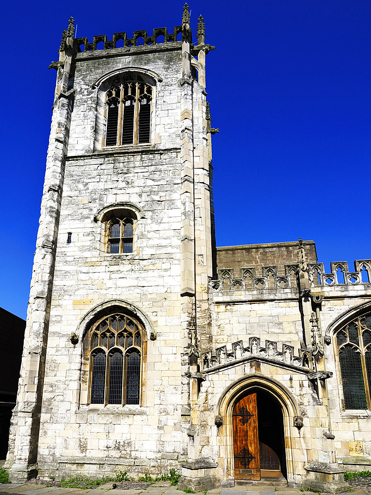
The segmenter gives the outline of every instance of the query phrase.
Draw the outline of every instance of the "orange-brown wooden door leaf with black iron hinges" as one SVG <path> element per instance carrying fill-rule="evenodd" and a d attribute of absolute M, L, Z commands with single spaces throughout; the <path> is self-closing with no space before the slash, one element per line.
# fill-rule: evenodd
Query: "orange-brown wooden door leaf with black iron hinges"
<path fill-rule="evenodd" d="M 232 422 L 234 478 L 260 480 L 256 393 L 242 397 L 234 405 Z"/>

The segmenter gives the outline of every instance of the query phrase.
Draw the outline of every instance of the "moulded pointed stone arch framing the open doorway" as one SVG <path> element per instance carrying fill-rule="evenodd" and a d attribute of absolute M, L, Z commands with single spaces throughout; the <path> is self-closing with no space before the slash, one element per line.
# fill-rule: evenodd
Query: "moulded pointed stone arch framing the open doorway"
<path fill-rule="evenodd" d="M 232 410 L 235 402 L 250 389 L 263 390 L 271 394 L 281 406 L 285 455 L 287 464 L 287 481 L 294 481 L 294 454 L 291 437 L 297 432 L 294 421 L 301 417 L 299 406 L 289 390 L 273 378 L 259 373 L 242 377 L 233 382 L 219 397 L 216 415 L 223 418 L 223 426 L 219 428 L 219 436 L 223 438 L 225 448 L 225 476 L 234 479 L 233 427 Z M 297 435 L 297 433 L 296 433 Z"/>

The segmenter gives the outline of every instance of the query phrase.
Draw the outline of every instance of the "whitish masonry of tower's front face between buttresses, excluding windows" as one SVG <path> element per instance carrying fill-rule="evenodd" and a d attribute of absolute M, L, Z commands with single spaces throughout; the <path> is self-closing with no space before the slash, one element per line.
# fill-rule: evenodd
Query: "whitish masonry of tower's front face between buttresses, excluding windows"
<path fill-rule="evenodd" d="M 85 475 L 115 472 L 118 466 L 158 473 L 178 465 L 186 454 L 180 373 L 187 345 L 180 297 L 182 72 L 181 52 L 173 45 L 150 57 L 143 53 L 148 47 L 139 47 L 138 55 L 117 49 L 118 56 L 112 58 L 96 52 L 77 56 L 46 355 L 41 475 L 61 476 L 81 470 L 82 464 Z M 153 144 L 94 152 L 98 90 L 92 89 L 93 83 L 112 70 L 132 66 L 162 79 L 155 88 Z M 103 224 L 94 222 L 99 210 L 119 202 L 140 211 L 132 254 L 107 254 Z M 139 308 L 157 334 L 157 340 L 149 340 L 151 329 L 146 328 L 139 406 L 81 402 L 87 396 L 87 383 L 81 382 L 83 330 L 79 345 L 72 345 L 69 337 L 87 312 L 109 300 Z"/>

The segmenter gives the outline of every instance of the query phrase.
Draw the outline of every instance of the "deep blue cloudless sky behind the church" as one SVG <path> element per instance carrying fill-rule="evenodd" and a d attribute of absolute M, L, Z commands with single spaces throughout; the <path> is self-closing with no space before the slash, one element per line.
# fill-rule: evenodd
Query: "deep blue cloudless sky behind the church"
<path fill-rule="evenodd" d="M 313 239 L 319 261 L 371 257 L 369 0 L 190 1 L 202 14 L 218 246 Z M 140 5 L 140 6 L 139 6 Z M 6 2 L 2 10 L 0 306 L 25 317 L 63 29 L 173 26 L 183 2 Z"/>

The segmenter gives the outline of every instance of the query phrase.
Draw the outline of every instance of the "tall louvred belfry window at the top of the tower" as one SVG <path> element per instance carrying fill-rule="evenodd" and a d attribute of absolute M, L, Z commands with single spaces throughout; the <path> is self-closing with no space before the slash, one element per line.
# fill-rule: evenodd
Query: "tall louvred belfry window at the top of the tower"
<path fill-rule="evenodd" d="M 150 143 L 152 91 L 150 84 L 136 81 L 107 91 L 105 146 Z"/>

